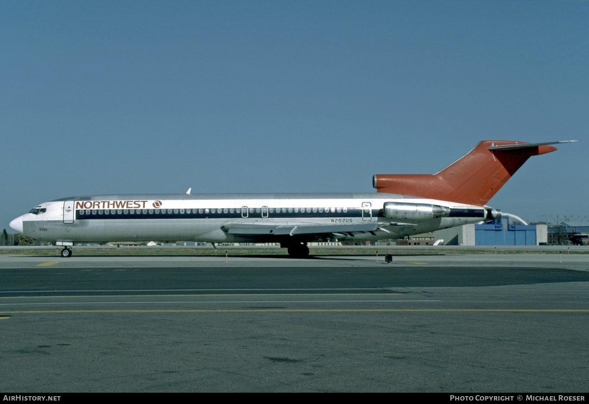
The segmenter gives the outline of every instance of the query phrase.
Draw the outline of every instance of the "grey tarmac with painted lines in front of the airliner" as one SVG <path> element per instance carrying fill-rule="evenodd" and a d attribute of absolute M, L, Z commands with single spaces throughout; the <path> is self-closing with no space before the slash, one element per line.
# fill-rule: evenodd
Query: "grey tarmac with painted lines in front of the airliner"
<path fill-rule="evenodd" d="M 2 392 L 586 392 L 589 256 L 0 256 Z"/>

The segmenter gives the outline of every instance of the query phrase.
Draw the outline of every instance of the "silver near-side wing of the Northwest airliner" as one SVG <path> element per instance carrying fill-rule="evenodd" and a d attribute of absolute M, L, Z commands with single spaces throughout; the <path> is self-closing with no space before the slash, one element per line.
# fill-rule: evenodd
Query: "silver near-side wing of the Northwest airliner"
<path fill-rule="evenodd" d="M 381 224 L 382 225 L 382 224 Z M 241 236 L 262 236 L 273 234 L 276 236 L 294 236 L 296 234 L 325 234 L 325 233 L 350 233 L 353 231 L 375 231 L 379 224 L 369 223 L 337 223 L 337 224 L 277 224 L 277 223 L 227 223 L 221 230 L 229 234 Z"/>

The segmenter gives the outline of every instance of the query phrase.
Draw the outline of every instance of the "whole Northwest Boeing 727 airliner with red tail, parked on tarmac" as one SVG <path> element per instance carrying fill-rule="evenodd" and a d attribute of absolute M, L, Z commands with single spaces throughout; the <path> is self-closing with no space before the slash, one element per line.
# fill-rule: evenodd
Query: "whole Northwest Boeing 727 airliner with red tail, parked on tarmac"
<path fill-rule="evenodd" d="M 61 198 L 15 218 L 10 227 L 64 246 L 79 242 L 194 240 L 280 243 L 295 257 L 312 241 L 396 239 L 494 220 L 488 201 L 533 156 L 552 144 L 482 141 L 436 174 L 377 174 L 372 194 L 153 194 Z"/>

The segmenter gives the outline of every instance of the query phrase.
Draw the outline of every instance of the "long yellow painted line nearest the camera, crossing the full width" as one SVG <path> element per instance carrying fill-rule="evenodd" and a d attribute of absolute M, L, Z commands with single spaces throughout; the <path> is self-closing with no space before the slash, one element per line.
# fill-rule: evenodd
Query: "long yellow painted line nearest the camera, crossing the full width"
<path fill-rule="evenodd" d="M 399 313 L 399 312 L 500 312 L 500 313 L 589 313 L 589 309 L 183 309 L 183 310 L 30 310 L 5 314 L 48 313 Z"/>

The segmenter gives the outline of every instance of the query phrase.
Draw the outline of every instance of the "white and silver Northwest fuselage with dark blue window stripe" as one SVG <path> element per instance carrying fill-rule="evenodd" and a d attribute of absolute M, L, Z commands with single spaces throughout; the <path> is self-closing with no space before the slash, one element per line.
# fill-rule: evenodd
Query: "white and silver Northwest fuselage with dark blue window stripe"
<path fill-rule="evenodd" d="M 445 216 L 385 216 L 385 203 L 442 206 Z M 389 212 L 389 210 L 387 210 Z M 12 229 L 58 245 L 192 240 L 211 243 L 395 239 L 477 223 L 489 208 L 395 194 L 104 195 L 49 201 Z"/>

